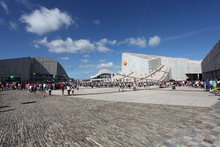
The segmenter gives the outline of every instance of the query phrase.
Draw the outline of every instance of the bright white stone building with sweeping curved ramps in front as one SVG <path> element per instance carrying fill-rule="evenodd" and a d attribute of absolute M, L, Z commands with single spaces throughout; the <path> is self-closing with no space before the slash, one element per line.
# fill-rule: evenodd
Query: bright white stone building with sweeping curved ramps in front
<path fill-rule="evenodd" d="M 197 80 L 201 79 L 201 61 L 188 58 L 144 55 L 136 53 L 122 54 L 122 69 L 115 79 L 129 81 L 149 79 L 155 81 Z"/>

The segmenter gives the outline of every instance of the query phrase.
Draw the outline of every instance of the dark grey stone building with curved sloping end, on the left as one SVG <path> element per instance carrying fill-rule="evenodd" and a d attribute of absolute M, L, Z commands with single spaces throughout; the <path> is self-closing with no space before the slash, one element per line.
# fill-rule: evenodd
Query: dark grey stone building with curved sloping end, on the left
<path fill-rule="evenodd" d="M 25 57 L 0 60 L 0 80 L 14 75 L 18 81 L 67 81 L 69 79 L 59 62 L 48 57 Z"/>

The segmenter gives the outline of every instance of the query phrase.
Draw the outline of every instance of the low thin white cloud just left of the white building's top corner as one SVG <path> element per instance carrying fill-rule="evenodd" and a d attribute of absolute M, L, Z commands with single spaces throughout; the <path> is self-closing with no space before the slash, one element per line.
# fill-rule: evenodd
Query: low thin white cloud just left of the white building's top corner
<path fill-rule="evenodd" d="M 108 62 L 108 63 L 101 63 L 101 64 L 98 64 L 98 65 L 80 65 L 79 68 L 81 68 L 81 69 L 88 69 L 88 68 L 93 68 L 93 69 L 102 69 L 102 68 L 113 69 L 113 68 L 120 68 L 120 66 L 114 65 L 113 62 Z"/>

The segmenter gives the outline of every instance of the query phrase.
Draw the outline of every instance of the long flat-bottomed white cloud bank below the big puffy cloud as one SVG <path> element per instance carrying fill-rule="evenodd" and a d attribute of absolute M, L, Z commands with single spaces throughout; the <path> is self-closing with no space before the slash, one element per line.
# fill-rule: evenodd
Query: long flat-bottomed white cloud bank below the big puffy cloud
<path fill-rule="evenodd" d="M 116 44 L 116 41 L 110 41 L 107 39 L 101 39 L 98 42 L 90 42 L 86 39 L 72 40 L 67 37 L 66 40 L 56 39 L 48 41 L 47 37 L 42 40 L 34 41 L 35 44 L 43 45 L 48 48 L 49 52 L 53 53 L 85 53 L 85 52 L 109 52 L 111 49 L 107 48 L 106 45 Z"/>

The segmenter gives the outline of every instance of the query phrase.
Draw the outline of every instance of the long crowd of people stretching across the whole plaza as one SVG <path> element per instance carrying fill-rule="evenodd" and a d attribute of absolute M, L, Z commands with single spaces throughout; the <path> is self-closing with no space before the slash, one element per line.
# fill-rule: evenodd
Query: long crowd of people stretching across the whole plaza
<path fill-rule="evenodd" d="M 117 87 L 119 91 L 123 91 L 124 88 L 137 90 L 138 87 L 150 87 L 150 86 L 159 86 L 160 88 L 171 87 L 180 87 L 180 86 L 191 86 L 191 87 L 200 87 L 205 88 L 207 91 L 212 92 L 220 87 L 220 80 L 195 80 L 195 81 L 167 81 L 167 82 L 72 82 L 72 83 L 25 83 L 25 82 L 0 82 L 0 90 L 8 89 L 18 89 L 18 90 L 28 90 L 30 92 L 37 91 L 48 91 L 51 95 L 52 90 L 61 89 L 62 94 L 64 91 L 67 91 L 68 95 L 74 95 L 75 90 L 79 90 L 79 87 L 90 87 L 90 88 L 107 88 L 107 87 Z M 219 88 L 220 90 L 220 88 Z"/>

